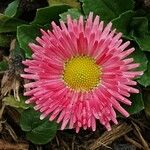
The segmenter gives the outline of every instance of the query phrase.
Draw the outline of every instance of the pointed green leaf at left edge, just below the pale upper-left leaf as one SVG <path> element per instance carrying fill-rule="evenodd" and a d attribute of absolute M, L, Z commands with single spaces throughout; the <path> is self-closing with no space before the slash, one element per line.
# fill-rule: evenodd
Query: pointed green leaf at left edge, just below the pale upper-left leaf
<path fill-rule="evenodd" d="M 0 33 L 6 32 L 15 32 L 17 30 L 17 26 L 25 24 L 26 22 L 5 16 L 0 13 Z"/>

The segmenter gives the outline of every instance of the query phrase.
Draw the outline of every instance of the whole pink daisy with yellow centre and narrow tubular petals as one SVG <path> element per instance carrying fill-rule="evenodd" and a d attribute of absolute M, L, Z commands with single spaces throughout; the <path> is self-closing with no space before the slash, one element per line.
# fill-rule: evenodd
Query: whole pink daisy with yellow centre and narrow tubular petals
<path fill-rule="evenodd" d="M 130 93 L 139 90 L 132 87 L 142 71 L 135 71 L 139 64 L 126 58 L 134 48 L 130 42 L 123 43 L 122 34 L 111 30 L 112 23 L 104 26 L 99 16 L 87 21 L 67 17 L 60 27 L 52 22 L 52 31 L 43 31 L 37 37 L 38 44 L 29 44 L 32 59 L 23 61 L 26 74 L 21 76 L 31 82 L 24 85 L 26 103 L 34 103 L 40 118 L 61 122 L 76 132 L 92 128 L 96 120 L 111 130 L 110 122 L 117 124 L 116 112 L 125 117 L 129 113 L 120 105 L 131 105 Z"/>

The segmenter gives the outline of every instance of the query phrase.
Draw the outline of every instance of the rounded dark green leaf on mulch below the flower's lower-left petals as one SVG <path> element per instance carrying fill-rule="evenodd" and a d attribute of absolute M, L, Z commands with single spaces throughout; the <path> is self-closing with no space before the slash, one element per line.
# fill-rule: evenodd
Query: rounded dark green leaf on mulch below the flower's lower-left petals
<path fill-rule="evenodd" d="M 21 115 L 20 126 L 32 143 L 46 144 L 54 138 L 57 125 L 48 119 L 39 118 L 40 114 L 33 109 L 25 110 Z"/>

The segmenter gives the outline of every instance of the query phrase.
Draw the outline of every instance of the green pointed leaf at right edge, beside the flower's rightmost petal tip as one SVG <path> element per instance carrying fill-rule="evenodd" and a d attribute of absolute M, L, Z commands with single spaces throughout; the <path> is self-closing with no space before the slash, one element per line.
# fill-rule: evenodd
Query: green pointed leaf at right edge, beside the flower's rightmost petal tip
<path fill-rule="evenodd" d="M 137 81 L 144 87 L 150 86 L 150 61 L 148 62 L 147 70 Z"/>

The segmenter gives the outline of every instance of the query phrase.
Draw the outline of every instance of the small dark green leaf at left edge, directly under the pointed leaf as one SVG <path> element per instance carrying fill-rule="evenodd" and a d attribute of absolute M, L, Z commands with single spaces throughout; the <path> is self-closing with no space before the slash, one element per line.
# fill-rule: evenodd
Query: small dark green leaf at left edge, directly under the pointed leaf
<path fill-rule="evenodd" d="M 0 47 L 9 47 L 11 36 L 7 34 L 0 34 Z"/>

